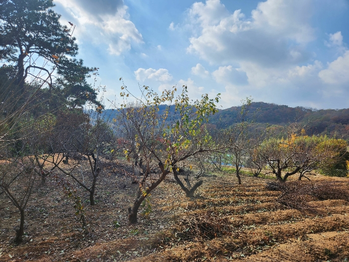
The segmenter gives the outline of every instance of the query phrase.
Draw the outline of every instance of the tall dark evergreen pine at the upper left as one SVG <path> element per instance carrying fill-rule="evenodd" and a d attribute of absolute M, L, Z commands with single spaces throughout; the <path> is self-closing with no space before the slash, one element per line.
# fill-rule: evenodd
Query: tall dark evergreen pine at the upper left
<path fill-rule="evenodd" d="M 38 80 L 47 83 L 49 96 L 60 95 L 58 100 L 69 101 L 71 108 L 86 101 L 99 105 L 96 91 L 86 80 L 94 69 L 74 58 L 78 53 L 71 36 L 75 26 L 70 22 L 70 28 L 62 26 L 53 6 L 52 0 L 0 0 L 0 61 L 15 72 L 1 89 L 10 86 L 12 91 L 16 89 L 13 93 L 21 95 L 28 88 L 28 76 L 38 79 L 41 71 L 45 75 Z M 42 60 L 45 66 L 35 63 Z"/>

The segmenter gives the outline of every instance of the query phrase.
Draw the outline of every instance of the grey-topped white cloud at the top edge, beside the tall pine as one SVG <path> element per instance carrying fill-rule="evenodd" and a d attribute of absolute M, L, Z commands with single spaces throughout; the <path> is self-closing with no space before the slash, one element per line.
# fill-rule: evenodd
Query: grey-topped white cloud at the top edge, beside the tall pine
<path fill-rule="evenodd" d="M 110 54 L 120 55 L 130 50 L 133 42 L 143 42 L 122 0 L 107 0 L 104 4 L 93 0 L 55 0 L 55 3 L 61 4 L 76 24 L 75 36 L 96 45 L 106 44 Z"/>

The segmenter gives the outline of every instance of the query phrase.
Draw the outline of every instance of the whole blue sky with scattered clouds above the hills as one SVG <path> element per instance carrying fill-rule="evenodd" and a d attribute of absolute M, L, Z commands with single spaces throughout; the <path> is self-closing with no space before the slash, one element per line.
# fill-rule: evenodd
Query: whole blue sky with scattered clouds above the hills
<path fill-rule="evenodd" d="M 312 108 L 349 107 L 348 0 L 54 0 L 76 25 L 78 57 L 99 67 L 106 97 L 188 87 Z"/>

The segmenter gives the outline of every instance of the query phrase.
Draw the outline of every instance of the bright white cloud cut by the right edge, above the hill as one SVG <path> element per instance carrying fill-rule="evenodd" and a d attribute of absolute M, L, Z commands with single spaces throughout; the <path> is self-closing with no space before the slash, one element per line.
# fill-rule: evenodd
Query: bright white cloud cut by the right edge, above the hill
<path fill-rule="evenodd" d="M 320 71 L 319 77 L 328 84 L 349 84 L 349 50 Z"/>

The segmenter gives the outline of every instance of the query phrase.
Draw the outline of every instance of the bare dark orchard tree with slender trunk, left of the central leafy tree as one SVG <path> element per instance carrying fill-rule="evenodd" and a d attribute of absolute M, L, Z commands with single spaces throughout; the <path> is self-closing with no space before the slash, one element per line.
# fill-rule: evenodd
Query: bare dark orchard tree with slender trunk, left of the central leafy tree
<path fill-rule="evenodd" d="M 96 110 L 91 108 L 86 114 L 74 118 L 70 115 L 59 117 L 54 136 L 48 143 L 50 151 L 40 156 L 42 161 L 51 163 L 86 190 L 91 206 L 95 205 L 101 160 L 112 159 L 115 148 L 113 130 L 101 118 L 101 110 L 102 106 L 97 106 Z M 84 159 L 88 161 L 88 172 L 81 170 Z M 81 172 L 78 172 L 79 169 Z"/>

